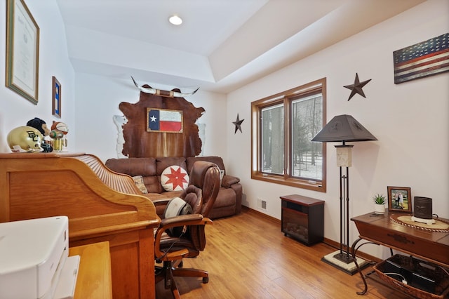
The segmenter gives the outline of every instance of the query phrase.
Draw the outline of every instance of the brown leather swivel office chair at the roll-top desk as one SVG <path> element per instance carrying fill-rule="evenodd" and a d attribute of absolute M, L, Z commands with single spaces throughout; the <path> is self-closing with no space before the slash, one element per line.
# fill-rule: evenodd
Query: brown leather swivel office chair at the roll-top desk
<path fill-rule="evenodd" d="M 189 187 L 180 195 L 192 206 L 192 214 L 164 218 L 156 230 L 154 258 L 156 263 L 163 263 L 163 267 L 156 267 L 156 283 L 164 279 L 165 288 L 171 288 L 174 298 L 180 298 L 180 293 L 173 277 L 202 277 L 203 283 L 208 283 L 207 271 L 183 268 L 182 258 L 195 258 L 204 250 L 204 228 L 212 224 L 208 216 L 219 189 L 219 168 L 207 161 L 196 161 L 190 174 Z M 168 234 L 171 227 L 184 227 L 180 237 Z"/>

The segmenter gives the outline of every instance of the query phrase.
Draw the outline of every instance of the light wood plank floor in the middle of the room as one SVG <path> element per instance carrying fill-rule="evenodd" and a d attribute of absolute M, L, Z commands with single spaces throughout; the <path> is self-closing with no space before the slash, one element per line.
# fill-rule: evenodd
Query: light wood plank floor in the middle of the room
<path fill-rule="evenodd" d="M 366 295 L 357 295 L 363 288 L 358 274 L 321 261 L 335 248 L 284 237 L 279 220 L 252 210 L 214 220 L 206 236 L 205 251 L 184 259 L 184 267 L 207 270 L 209 282 L 175 277 L 181 298 L 408 298 L 374 279 L 368 279 Z M 156 284 L 156 297 L 171 298 L 163 281 Z"/>

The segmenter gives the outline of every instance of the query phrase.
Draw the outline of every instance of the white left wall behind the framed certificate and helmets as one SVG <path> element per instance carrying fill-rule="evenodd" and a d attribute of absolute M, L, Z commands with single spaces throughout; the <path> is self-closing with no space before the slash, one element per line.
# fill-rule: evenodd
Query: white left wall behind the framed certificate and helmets
<path fill-rule="evenodd" d="M 74 124 L 74 71 L 67 56 L 65 30 L 55 0 L 26 1 L 29 11 L 40 28 L 39 42 L 39 102 L 34 105 L 5 87 L 6 58 L 6 0 L 0 0 L 0 152 L 10 152 L 6 143 L 9 131 L 25 126 L 27 121 L 39 117 L 48 127 L 53 121 L 63 121 L 69 126 L 69 135 L 76 131 Z M 52 76 L 55 76 L 61 88 L 61 113 L 59 119 L 52 115 Z M 74 143 L 69 144 L 69 150 Z"/>

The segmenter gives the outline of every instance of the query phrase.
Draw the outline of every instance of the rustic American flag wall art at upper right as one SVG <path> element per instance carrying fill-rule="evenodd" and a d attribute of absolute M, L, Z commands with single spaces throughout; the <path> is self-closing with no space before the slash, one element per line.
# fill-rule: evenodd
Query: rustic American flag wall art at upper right
<path fill-rule="evenodd" d="M 394 84 L 449 71 L 449 33 L 393 52 Z"/>

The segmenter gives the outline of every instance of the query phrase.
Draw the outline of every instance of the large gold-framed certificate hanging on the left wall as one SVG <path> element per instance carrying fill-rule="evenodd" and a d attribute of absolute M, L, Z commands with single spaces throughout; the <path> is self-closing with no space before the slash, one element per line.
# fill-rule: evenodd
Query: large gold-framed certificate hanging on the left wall
<path fill-rule="evenodd" d="M 37 105 L 39 26 L 23 0 L 6 0 L 6 87 Z"/>

